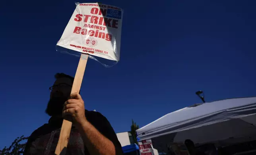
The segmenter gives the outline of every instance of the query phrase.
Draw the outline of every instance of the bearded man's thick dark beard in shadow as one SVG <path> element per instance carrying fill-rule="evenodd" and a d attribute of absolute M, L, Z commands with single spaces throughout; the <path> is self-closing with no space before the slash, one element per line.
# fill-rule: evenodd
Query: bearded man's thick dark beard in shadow
<path fill-rule="evenodd" d="M 50 98 L 45 113 L 49 116 L 62 115 L 63 104 L 68 100 L 66 97 L 52 97 Z"/>

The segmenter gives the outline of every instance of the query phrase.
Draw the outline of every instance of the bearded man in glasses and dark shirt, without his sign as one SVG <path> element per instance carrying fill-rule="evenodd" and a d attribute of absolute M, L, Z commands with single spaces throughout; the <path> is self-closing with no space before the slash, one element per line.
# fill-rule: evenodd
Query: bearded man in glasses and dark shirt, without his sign
<path fill-rule="evenodd" d="M 45 111 L 51 118 L 31 134 L 24 155 L 54 155 L 64 116 L 71 116 L 73 121 L 66 155 L 123 155 L 106 117 L 85 110 L 79 93 L 70 95 L 74 77 L 58 73 L 55 78 Z"/>

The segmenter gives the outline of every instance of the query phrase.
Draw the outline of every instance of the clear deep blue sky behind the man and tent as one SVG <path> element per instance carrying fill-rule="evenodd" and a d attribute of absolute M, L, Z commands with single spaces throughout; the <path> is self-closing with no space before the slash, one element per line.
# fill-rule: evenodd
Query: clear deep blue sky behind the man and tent
<path fill-rule="evenodd" d="M 256 96 L 255 0 L 102 3 L 124 9 L 120 62 L 90 59 L 81 96 L 116 132 L 201 102 L 198 90 L 206 101 Z M 75 75 L 78 57 L 55 50 L 74 9 L 72 0 L 1 2 L 0 149 L 47 123 L 56 72 Z"/>

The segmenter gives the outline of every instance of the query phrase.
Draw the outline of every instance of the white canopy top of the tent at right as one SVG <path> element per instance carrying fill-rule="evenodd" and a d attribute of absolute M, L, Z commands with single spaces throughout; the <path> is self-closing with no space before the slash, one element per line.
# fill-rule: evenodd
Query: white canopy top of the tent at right
<path fill-rule="evenodd" d="M 230 137 L 256 136 L 256 97 L 186 107 L 168 113 L 136 132 L 140 140 L 173 135 L 173 142 L 182 143 L 186 139 L 204 143 Z"/>

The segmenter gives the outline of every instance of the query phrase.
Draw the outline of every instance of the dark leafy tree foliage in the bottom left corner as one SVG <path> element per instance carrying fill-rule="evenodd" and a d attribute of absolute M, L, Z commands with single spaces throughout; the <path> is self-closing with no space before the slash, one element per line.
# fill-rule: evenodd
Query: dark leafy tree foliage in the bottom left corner
<path fill-rule="evenodd" d="M 0 150 L 0 155 L 21 155 L 25 149 L 26 143 L 21 144 L 21 141 L 26 140 L 28 137 L 17 137 L 12 145 L 8 148 L 5 146 Z"/>

